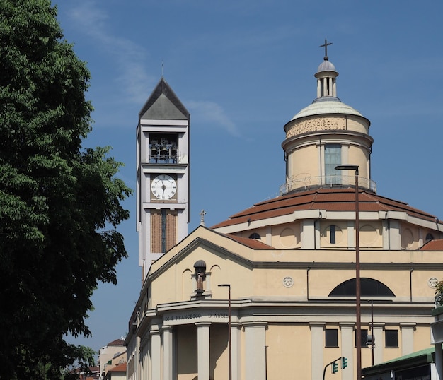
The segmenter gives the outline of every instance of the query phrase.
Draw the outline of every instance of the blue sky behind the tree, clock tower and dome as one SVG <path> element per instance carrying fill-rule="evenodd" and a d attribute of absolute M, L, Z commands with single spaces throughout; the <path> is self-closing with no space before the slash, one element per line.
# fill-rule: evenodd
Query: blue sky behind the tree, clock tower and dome
<path fill-rule="evenodd" d="M 57 4 L 54 2 L 54 4 Z M 283 126 L 316 97 L 324 50 L 338 97 L 371 120 L 378 194 L 443 218 L 442 1 L 60 0 L 66 39 L 91 71 L 93 132 L 135 189 L 139 109 L 161 78 L 191 114 L 192 232 L 277 194 Z M 162 69 L 163 66 L 163 69 Z M 120 225 L 130 257 L 100 285 L 76 343 L 94 350 L 127 332 L 141 287 L 135 201 Z"/>

